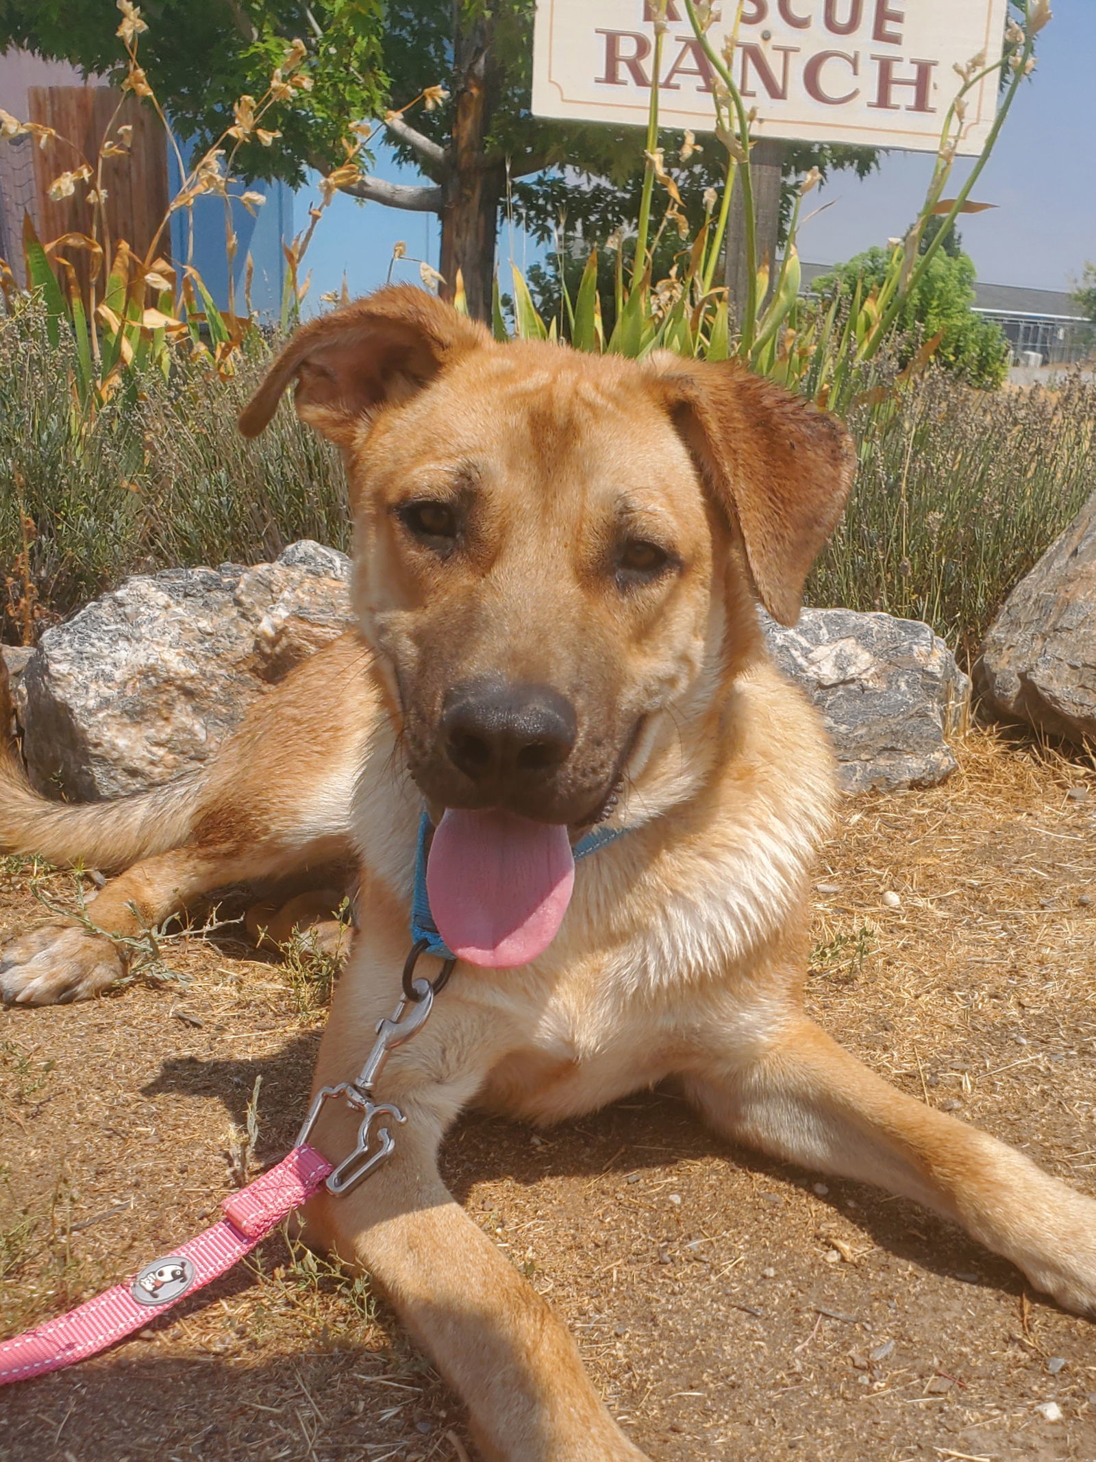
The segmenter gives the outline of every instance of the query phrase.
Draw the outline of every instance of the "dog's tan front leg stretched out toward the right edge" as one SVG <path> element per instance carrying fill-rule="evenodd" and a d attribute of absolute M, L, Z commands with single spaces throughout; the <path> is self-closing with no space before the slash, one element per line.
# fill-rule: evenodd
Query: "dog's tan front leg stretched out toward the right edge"
<path fill-rule="evenodd" d="M 726 1136 L 915 1199 L 1068 1310 L 1096 1314 L 1096 1200 L 875 1076 L 804 1015 L 753 1053 L 713 1050 L 685 1091 Z"/>

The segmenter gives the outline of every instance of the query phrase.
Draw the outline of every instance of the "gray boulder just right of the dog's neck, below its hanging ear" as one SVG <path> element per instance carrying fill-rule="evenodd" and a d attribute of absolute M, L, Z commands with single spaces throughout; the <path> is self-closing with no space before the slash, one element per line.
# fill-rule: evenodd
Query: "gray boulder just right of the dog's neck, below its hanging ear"
<path fill-rule="evenodd" d="M 794 629 L 761 616 L 776 665 L 821 711 L 846 792 L 934 787 L 956 768 L 948 735 L 970 681 L 928 624 L 804 610 Z"/>

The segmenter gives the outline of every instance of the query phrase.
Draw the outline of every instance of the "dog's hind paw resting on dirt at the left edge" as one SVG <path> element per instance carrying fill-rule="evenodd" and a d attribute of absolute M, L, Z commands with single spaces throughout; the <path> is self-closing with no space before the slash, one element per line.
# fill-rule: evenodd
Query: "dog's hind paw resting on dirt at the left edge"
<path fill-rule="evenodd" d="M 47 924 L 0 944 L 4 1004 L 67 1004 L 89 1000 L 126 974 L 105 934 L 79 924 Z"/>

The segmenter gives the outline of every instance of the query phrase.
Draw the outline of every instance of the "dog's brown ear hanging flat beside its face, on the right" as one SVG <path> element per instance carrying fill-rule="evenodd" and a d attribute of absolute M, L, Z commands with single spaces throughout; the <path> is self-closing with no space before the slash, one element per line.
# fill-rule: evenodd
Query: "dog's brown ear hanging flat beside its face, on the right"
<path fill-rule="evenodd" d="M 741 535 L 757 596 L 780 624 L 795 624 L 852 484 L 849 433 L 737 361 L 659 352 L 652 363 L 709 491 Z"/>

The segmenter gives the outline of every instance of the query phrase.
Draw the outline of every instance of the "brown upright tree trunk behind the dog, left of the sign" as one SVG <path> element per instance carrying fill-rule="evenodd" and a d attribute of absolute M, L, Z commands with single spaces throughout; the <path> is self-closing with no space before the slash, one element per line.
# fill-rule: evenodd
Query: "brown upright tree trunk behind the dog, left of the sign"
<path fill-rule="evenodd" d="M 498 95 L 498 76 L 491 58 L 491 13 L 481 15 L 463 31 L 462 9 L 457 0 L 452 171 L 441 211 L 441 292 L 444 298 L 453 298 L 459 270 L 468 313 L 475 320 L 490 320 L 498 202 L 506 170 L 500 162 L 487 161 L 484 142 Z"/>

